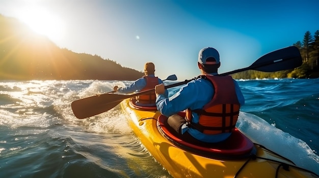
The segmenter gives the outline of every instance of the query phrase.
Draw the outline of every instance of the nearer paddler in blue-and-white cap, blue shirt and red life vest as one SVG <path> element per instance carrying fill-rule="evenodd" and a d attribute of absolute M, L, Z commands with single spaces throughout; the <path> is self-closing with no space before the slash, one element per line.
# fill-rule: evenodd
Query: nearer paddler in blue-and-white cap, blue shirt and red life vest
<path fill-rule="evenodd" d="M 201 75 L 169 98 L 164 95 L 164 85 L 156 85 L 156 106 L 182 136 L 217 143 L 227 139 L 235 128 L 245 98 L 235 80 L 218 76 L 221 62 L 216 49 L 200 50 L 197 65 Z M 177 115 L 184 110 L 185 118 Z"/>

